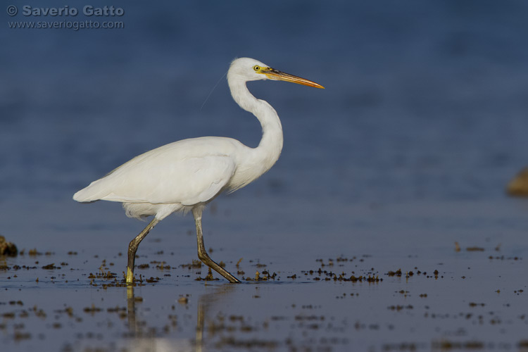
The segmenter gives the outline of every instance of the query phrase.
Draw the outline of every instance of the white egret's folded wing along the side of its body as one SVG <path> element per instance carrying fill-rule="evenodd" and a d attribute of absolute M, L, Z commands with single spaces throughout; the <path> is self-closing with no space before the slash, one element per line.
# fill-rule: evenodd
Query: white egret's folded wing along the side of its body
<path fill-rule="evenodd" d="M 230 156 L 209 155 L 182 160 L 144 158 L 127 163 L 92 182 L 80 201 L 181 203 L 190 206 L 213 199 L 230 181 L 236 164 Z M 132 159 L 134 160 L 134 159 Z M 77 195 L 77 194 L 76 194 Z"/>

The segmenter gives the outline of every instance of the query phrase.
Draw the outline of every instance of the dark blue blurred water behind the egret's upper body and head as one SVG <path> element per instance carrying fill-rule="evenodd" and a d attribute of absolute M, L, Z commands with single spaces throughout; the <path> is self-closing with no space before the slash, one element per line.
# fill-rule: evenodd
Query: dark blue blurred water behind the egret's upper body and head
<path fill-rule="evenodd" d="M 125 11 L 108 18 L 26 17 L 23 5 L 65 2 L 11 3 L 0 12 L 0 203 L 69 201 L 178 139 L 256 146 L 258 121 L 222 77 L 241 56 L 326 87 L 250 84 L 285 142 L 241 200 L 493 201 L 528 163 L 525 1 L 68 1 Z M 8 27 L 87 19 L 125 28 Z"/>

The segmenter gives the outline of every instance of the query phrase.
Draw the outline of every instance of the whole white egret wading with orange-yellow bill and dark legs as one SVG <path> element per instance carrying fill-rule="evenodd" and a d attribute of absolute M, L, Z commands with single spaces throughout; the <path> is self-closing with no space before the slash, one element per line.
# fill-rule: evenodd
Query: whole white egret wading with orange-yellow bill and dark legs
<path fill-rule="evenodd" d="M 149 231 L 171 213 L 189 210 L 196 222 L 198 258 L 230 282 L 240 282 L 208 256 L 201 216 L 216 196 L 253 182 L 279 158 L 283 142 L 279 116 L 268 102 L 256 99 L 246 87 L 248 81 L 268 79 L 324 88 L 253 58 L 237 58 L 227 72 L 227 83 L 234 101 L 260 121 L 263 135 L 256 148 L 227 137 L 184 139 L 136 156 L 73 195 L 80 202 L 121 202 L 130 218 L 154 215 L 128 246 L 127 283 L 134 281 L 137 247 Z"/>

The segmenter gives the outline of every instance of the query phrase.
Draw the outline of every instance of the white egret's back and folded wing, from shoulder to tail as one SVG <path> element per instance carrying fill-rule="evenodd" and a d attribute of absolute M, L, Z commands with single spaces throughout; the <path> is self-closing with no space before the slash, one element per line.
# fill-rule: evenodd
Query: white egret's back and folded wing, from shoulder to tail
<path fill-rule="evenodd" d="M 222 191 L 247 148 L 236 139 L 184 139 L 147 151 L 77 191 L 80 202 L 182 203 L 191 205 Z"/>

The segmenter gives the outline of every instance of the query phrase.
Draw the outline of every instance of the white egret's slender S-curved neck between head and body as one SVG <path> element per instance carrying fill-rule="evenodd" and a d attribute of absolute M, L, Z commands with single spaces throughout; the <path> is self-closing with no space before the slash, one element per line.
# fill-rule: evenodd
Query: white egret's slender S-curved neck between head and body
<path fill-rule="evenodd" d="M 246 82 L 229 82 L 231 94 L 245 111 L 253 113 L 262 126 L 262 139 L 255 150 L 265 171 L 279 159 L 282 151 L 282 125 L 277 111 L 267 102 L 256 99 L 246 87 Z"/>

